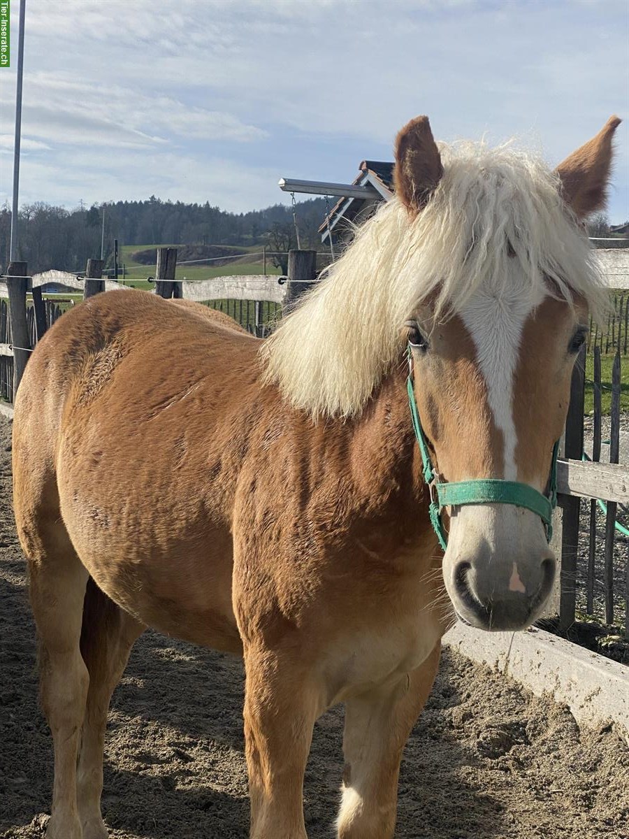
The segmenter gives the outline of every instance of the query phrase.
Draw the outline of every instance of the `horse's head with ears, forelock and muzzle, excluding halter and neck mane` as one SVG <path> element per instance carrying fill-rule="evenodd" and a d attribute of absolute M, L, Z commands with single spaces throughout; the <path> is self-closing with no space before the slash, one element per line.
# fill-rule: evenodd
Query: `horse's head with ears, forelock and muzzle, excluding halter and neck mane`
<path fill-rule="evenodd" d="M 425 242 L 400 270 L 440 272 L 415 278 L 408 312 L 418 418 L 436 481 L 473 482 L 471 503 L 444 505 L 444 581 L 480 628 L 528 626 L 553 586 L 540 515 L 508 492 L 501 503 L 474 495 L 485 479 L 498 493 L 507 482 L 542 502 L 548 493 L 574 361 L 602 299 L 580 220 L 604 204 L 619 122 L 555 173 L 507 149 L 440 153 L 426 117 L 398 135 L 397 195 Z"/>

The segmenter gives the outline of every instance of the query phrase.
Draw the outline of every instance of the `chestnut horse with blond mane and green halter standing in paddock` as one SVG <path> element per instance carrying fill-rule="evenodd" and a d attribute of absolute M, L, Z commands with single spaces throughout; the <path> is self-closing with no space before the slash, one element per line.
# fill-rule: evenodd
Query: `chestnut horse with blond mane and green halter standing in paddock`
<path fill-rule="evenodd" d="M 336 703 L 337 834 L 393 835 L 444 632 L 526 628 L 553 586 L 555 444 L 607 305 L 583 220 L 619 122 L 551 171 L 413 119 L 394 199 L 265 341 L 121 291 L 39 342 L 13 476 L 49 839 L 107 836 L 107 709 L 147 627 L 244 660 L 252 839 L 306 837 L 313 726 Z"/>

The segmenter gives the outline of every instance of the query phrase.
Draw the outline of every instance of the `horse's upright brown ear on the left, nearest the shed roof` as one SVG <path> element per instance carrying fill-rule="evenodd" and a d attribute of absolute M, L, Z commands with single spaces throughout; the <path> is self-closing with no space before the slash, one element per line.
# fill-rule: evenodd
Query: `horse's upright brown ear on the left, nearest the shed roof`
<path fill-rule="evenodd" d="M 428 117 L 415 117 L 398 133 L 395 141 L 393 182 L 396 194 L 408 210 L 421 210 L 443 174 L 444 167 Z"/>

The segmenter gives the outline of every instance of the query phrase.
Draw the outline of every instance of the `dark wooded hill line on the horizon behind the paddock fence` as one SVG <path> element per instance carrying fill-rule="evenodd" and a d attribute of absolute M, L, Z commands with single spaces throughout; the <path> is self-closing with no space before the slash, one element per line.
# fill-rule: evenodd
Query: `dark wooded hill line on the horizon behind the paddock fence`
<path fill-rule="evenodd" d="M 325 218 L 325 200 L 314 198 L 297 205 L 299 242 L 302 248 L 322 248 L 318 227 Z M 112 201 L 104 205 L 67 210 L 43 201 L 24 205 L 18 214 L 16 261 L 29 264 L 36 274 L 49 268 L 82 271 L 88 258 L 101 254 L 112 267 L 114 240 L 122 245 L 161 244 L 234 245 L 247 248 L 268 245 L 272 250 L 297 247 L 294 210 L 276 204 L 264 210 L 231 213 L 205 204 L 161 201 Z M 0 207 L 0 273 L 9 258 L 11 209 Z"/>

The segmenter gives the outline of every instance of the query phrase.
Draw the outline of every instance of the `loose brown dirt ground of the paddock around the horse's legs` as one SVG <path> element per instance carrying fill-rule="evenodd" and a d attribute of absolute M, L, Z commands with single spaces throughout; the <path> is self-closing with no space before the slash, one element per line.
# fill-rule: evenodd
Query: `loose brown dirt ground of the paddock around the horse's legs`
<path fill-rule="evenodd" d="M 0 417 L 0 836 L 43 836 L 52 746 L 11 510 L 10 424 Z M 322 717 L 304 785 L 312 839 L 333 836 L 342 709 Z M 103 810 L 116 839 L 244 839 L 242 665 L 145 633 L 114 694 Z M 569 711 L 444 653 L 404 753 L 405 839 L 629 839 L 629 748 Z M 269 837 L 272 839 L 272 837 Z"/>

